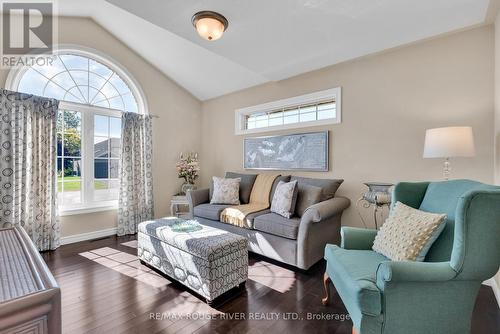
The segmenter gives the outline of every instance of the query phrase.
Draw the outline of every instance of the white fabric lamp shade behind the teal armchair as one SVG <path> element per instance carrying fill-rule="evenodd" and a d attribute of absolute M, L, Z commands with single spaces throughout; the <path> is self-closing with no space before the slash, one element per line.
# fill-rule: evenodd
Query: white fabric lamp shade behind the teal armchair
<path fill-rule="evenodd" d="M 429 129 L 425 132 L 424 158 L 473 157 L 474 135 L 470 126 Z"/>

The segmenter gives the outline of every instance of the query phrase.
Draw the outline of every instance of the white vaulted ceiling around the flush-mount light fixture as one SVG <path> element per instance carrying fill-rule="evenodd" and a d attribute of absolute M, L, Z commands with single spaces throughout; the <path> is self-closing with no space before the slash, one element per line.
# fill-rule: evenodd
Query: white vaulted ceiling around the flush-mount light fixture
<path fill-rule="evenodd" d="M 483 23 L 490 0 L 59 0 L 206 100 Z M 200 10 L 229 20 L 201 39 Z"/>

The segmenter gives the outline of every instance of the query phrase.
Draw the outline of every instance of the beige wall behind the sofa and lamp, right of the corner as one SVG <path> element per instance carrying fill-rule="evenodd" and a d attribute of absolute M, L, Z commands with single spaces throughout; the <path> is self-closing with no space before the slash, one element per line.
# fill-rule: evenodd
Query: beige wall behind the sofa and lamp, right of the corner
<path fill-rule="evenodd" d="M 352 201 L 343 224 L 360 226 L 362 182 L 439 180 L 442 161 L 423 159 L 425 129 L 473 126 L 477 154 L 453 159 L 453 177 L 493 182 L 493 27 L 487 26 L 327 67 L 216 98 L 202 106 L 202 183 L 242 170 L 234 110 L 342 87 L 342 123 L 330 131 L 330 172 Z M 297 131 L 297 130 L 295 130 Z M 294 132 L 294 131 L 292 131 Z M 269 134 L 269 133 L 268 133 Z"/>

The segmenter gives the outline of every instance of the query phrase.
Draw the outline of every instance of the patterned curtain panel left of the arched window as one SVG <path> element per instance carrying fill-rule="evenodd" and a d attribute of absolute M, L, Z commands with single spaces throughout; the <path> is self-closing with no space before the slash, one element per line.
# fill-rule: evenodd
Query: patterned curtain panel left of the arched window
<path fill-rule="evenodd" d="M 22 226 L 39 250 L 59 247 L 58 104 L 0 89 L 0 227 Z"/>

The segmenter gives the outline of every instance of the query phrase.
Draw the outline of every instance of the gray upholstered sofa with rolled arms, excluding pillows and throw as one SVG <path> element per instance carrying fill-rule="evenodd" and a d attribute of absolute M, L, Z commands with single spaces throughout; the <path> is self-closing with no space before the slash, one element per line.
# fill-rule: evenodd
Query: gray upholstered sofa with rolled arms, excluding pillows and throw
<path fill-rule="evenodd" d="M 241 177 L 240 201 L 246 204 L 250 198 L 256 174 L 226 173 L 226 177 Z M 290 219 L 270 210 L 247 216 L 251 228 L 241 228 L 222 223 L 219 216 L 230 205 L 210 204 L 211 188 L 188 193 L 191 217 L 201 224 L 242 235 L 248 239 L 248 250 L 307 270 L 323 258 L 325 245 L 339 244 L 342 212 L 349 207 L 345 197 L 335 196 L 343 180 L 280 176 L 273 184 L 270 200 L 280 180 L 297 180 L 298 196 L 296 213 Z M 307 206 L 311 201 L 308 188 L 321 188 L 320 202 Z M 317 189 L 317 188 L 316 188 Z"/>

